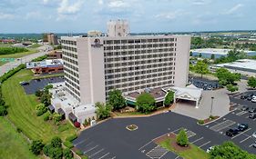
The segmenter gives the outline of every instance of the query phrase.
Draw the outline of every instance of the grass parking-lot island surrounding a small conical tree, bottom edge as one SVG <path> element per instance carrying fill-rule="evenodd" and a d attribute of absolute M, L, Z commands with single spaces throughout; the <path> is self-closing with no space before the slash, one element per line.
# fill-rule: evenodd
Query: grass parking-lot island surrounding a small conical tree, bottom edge
<path fill-rule="evenodd" d="M 179 154 L 179 156 L 184 159 L 209 159 L 210 158 L 209 154 L 207 154 L 205 151 L 203 151 L 202 149 L 200 149 L 194 144 L 189 144 L 190 149 L 188 150 L 177 151 L 172 146 L 174 142 L 176 142 L 175 139 L 170 138 L 170 139 L 164 140 L 159 145 L 168 149 L 171 152 L 174 152 L 175 154 Z"/>

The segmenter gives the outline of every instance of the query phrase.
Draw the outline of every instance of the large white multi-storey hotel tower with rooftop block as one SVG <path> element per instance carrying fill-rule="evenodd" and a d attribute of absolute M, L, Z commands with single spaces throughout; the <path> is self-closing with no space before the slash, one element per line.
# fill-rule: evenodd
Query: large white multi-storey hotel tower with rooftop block
<path fill-rule="evenodd" d="M 184 87 L 189 35 L 129 35 L 127 21 L 110 21 L 108 34 L 63 36 L 67 92 L 80 104 L 106 102 L 112 89 Z"/>

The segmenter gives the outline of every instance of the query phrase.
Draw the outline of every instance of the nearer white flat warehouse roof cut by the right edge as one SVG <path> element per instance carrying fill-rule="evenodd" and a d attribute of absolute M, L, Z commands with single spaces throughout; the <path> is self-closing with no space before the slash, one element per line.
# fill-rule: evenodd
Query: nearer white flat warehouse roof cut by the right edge
<path fill-rule="evenodd" d="M 214 65 L 217 67 L 227 67 L 227 68 L 241 68 L 247 70 L 256 70 L 256 60 L 251 59 L 241 59 L 236 62 Z"/>

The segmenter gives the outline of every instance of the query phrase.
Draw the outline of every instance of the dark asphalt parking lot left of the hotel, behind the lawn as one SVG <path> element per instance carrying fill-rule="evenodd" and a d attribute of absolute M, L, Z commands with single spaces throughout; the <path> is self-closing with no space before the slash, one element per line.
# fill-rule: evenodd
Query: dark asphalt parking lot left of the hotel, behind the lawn
<path fill-rule="evenodd" d="M 26 94 L 35 94 L 37 90 L 45 88 L 47 84 L 64 82 L 63 77 L 51 77 L 31 80 L 29 84 L 23 85 Z"/>

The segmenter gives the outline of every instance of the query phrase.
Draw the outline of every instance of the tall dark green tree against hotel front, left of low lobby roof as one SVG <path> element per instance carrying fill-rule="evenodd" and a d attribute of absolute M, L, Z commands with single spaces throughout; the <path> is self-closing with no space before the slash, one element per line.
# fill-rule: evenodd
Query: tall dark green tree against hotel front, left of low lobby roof
<path fill-rule="evenodd" d="M 126 106 L 126 99 L 120 90 L 114 89 L 109 92 L 108 104 L 113 106 L 113 110 L 118 110 Z"/>

